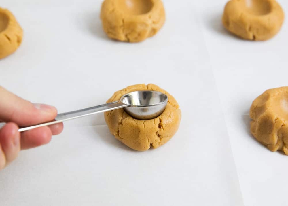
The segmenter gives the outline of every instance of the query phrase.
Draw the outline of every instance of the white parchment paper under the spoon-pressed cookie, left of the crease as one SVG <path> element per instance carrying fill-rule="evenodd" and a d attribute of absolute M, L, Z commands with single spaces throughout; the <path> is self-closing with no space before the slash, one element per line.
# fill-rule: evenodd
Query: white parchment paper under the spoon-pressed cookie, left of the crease
<path fill-rule="evenodd" d="M 198 8 L 165 1 L 163 29 L 126 44 L 103 33 L 101 1 L 81 2 L 1 2 L 25 32 L 0 61 L 1 84 L 64 112 L 156 83 L 180 104 L 179 131 L 136 152 L 114 139 L 102 114 L 67 122 L 50 144 L 0 171 L 0 205 L 243 205 Z"/>

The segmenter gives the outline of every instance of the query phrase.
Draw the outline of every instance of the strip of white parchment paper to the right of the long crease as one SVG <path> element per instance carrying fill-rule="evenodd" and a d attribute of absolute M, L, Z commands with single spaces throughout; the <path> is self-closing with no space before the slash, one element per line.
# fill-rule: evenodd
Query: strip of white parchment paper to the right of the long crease
<path fill-rule="evenodd" d="M 202 28 L 225 114 L 245 206 L 287 205 L 287 156 L 270 152 L 250 134 L 252 101 L 269 88 L 287 86 L 287 20 L 265 42 L 238 39 L 221 26 L 226 1 L 205 1 Z M 209 4 L 207 4 L 209 2 Z M 287 12 L 288 2 L 278 1 Z"/>

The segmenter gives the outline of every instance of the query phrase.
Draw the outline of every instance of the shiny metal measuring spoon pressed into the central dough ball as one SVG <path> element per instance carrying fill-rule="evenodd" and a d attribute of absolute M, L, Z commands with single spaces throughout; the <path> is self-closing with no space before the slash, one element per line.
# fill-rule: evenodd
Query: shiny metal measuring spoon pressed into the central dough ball
<path fill-rule="evenodd" d="M 124 108 L 132 117 L 139 120 L 149 120 L 158 117 L 166 108 L 168 102 L 167 95 L 156 91 L 136 91 L 123 95 L 120 101 L 115 101 L 95 107 L 69 111 L 58 114 L 55 120 L 33 126 L 20 128 L 18 131 L 26 131 L 41 126 L 57 124 L 66 120 L 72 120 L 79 117 L 97 114 L 100 112 L 111 111 L 114 109 Z"/>

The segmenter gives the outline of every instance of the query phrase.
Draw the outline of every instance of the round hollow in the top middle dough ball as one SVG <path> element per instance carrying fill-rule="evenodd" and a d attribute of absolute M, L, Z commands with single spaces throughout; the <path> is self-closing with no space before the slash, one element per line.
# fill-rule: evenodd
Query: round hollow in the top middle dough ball
<path fill-rule="evenodd" d="M 153 7 L 151 0 L 119 0 L 118 8 L 125 14 L 147 14 Z"/>

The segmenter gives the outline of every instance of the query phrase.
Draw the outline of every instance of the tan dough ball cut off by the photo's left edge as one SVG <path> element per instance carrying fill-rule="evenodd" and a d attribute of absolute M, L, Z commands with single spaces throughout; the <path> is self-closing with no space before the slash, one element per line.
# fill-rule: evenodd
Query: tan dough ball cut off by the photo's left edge
<path fill-rule="evenodd" d="M 0 59 L 4 58 L 20 46 L 23 31 L 13 14 L 0 8 Z"/>

